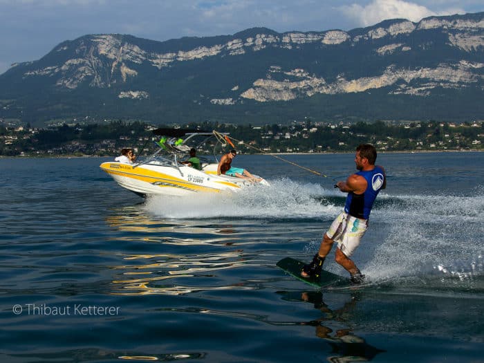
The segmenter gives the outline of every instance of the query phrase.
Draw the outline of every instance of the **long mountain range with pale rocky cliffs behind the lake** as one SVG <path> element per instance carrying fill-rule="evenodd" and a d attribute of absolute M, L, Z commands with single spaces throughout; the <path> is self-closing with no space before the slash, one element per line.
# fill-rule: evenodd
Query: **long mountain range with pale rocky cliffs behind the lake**
<path fill-rule="evenodd" d="M 484 12 L 348 32 L 86 35 L 0 75 L 0 119 L 484 119 Z"/>

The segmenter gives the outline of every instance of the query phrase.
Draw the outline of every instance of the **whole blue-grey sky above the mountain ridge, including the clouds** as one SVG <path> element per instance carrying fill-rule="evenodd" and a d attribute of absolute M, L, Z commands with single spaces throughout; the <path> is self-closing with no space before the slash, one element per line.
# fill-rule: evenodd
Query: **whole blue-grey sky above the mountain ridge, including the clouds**
<path fill-rule="evenodd" d="M 351 30 L 384 19 L 484 11 L 483 0 L 0 0 L 0 74 L 88 34 L 156 41 L 277 32 Z"/>

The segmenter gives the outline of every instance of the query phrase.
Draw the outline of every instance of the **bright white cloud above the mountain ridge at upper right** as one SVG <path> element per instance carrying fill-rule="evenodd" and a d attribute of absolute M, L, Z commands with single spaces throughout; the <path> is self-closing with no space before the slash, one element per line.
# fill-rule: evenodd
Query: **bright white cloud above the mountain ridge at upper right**
<path fill-rule="evenodd" d="M 425 6 L 402 0 L 373 0 L 366 6 L 353 3 L 351 6 L 342 6 L 339 9 L 347 17 L 359 22 L 361 26 L 371 26 L 385 19 L 408 19 L 418 22 L 422 18 L 433 15 L 452 15 L 464 12 L 457 8 L 434 12 Z"/>

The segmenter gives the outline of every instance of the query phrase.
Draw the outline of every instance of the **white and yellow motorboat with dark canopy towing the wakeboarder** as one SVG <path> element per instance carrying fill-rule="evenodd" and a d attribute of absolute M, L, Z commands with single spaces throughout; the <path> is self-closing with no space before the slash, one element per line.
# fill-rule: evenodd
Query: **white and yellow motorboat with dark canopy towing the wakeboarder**
<path fill-rule="evenodd" d="M 218 159 L 216 148 L 229 141 L 226 135 L 214 132 L 199 132 L 183 129 L 156 129 L 153 133 L 163 136 L 166 142 L 156 142 L 158 150 L 151 156 L 135 164 L 103 162 L 100 168 L 106 171 L 121 187 L 136 194 L 162 194 L 167 196 L 188 196 L 195 192 L 237 191 L 252 187 L 253 180 L 233 176 L 217 175 Z M 168 140 L 167 138 L 171 138 Z M 212 145 L 213 156 L 198 156 L 201 170 L 181 162 L 188 151 L 197 151 Z M 259 178 L 258 176 L 255 176 Z M 262 179 L 260 184 L 268 185 Z"/>

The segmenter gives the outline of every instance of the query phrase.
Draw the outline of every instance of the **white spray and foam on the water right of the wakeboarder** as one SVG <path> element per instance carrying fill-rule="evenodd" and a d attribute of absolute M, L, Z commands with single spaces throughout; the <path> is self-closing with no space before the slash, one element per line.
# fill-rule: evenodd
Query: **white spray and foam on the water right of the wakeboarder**
<path fill-rule="evenodd" d="M 433 285 L 460 280 L 475 285 L 484 274 L 483 194 L 384 196 L 372 215 L 387 234 L 364 266 L 373 279 L 418 277 Z"/>

